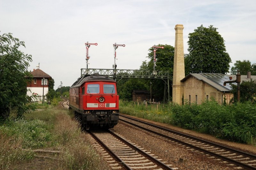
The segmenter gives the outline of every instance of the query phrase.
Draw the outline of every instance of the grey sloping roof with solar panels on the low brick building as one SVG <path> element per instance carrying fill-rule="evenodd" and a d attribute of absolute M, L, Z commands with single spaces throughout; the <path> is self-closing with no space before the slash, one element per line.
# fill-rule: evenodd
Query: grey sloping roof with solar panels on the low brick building
<path fill-rule="evenodd" d="M 219 91 L 230 91 L 231 86 L 227 83 L 227 86 L 223 86 L 224 81 L 229 81 L 229 77 L 220 73 L 190 73 L 181 82 L 186 81 L 189 77 L 195 77 L 198 80 L 202 80 L 210 86 Z M 236 84 L 236 83 L 235 83 Z"/>

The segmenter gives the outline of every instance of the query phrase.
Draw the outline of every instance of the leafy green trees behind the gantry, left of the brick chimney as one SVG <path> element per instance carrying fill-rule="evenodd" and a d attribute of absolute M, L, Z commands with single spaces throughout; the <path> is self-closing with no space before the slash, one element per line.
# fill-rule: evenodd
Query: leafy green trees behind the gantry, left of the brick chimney
<path fill-rule="evenodd" d="M 158 44 L 156 46 L 164 46 L 164 49 L 156 50 L 156 67 L 158 71 L 169 71 L 169 74 L 173 73 L 173 60 L 174 60 L 174 47 L 171 45 Z M 140 70 L 153 71 L 154 68 L 154 51 L 153 47 L 149 48 L 148 57 L 149 61 L 143 61 Z M 132 100 L 133 89 L 150 90 L 150 82 L 152 88 L 152 98 L 155 101 L 161 101 L 164 97 L 164 82 L 156 79 L 121 79 L 117 83 L 117 92 L 120 98 L 126 100 Z M 171 86 L 170 86 L 171 87 Z M 170 90 L 171 91 L 171 90 Z"/>

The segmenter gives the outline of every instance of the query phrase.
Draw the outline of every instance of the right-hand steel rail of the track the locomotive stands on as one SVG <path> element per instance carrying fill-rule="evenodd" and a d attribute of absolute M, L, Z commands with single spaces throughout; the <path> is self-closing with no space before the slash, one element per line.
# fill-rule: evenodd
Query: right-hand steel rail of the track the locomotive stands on
<path fill-rule="evenodd" d="M 164 169 L 171 169 L 171 170 L 174 170 L 172 169 L 170 166 L 167 166 L 166 164 L 164 164 L 163 162 L 159 161 L 158 159 L 152 157 L 151 155 L 149 155 L 148 153 L 142 151 L 140 148 L 138 148 L 137 146 L 133 145 L 132 143 L 126 141 L 125 139 L 123 139 L 122 137 L 116 135 L 114 132 L 108 130 L 108 132 L 111 134 L 111 135 L 114 135 L 116 138 L 118 138 L 120 141 L 124 142 L 125 144 L 127 144 L 128 146 L 130 146 L 132 149 L 136 150 L 136 151 L 139 151 L 142 155 L 144 155 L 145 157 L 149 158 L 152 162 L 156 163 L 156 165 L 164 168 Z"/>

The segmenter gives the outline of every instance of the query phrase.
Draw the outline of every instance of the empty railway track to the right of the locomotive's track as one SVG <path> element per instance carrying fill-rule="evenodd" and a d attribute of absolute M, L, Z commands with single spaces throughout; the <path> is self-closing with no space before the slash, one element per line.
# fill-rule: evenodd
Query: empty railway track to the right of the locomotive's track
<path fill-rule="evenodd" d="M 191 148 L 190 150 L 197 150 L 211 155 L 209 158 L 217 158 L 215 160 L 224 160 L 223 163 L 230 162 L 230 166 L 238 166 L 235 168 L 256 169 L 255 155 L 205 141 L 193 136 L 181 134 L 179 132 L 136 120 L 124 115 L 119 115 L 119 120 L 155 135 L 161 136 L 165 139 L 171 140 L 172 142 L 180 143 L 187 146 L 187 148 Z"/>

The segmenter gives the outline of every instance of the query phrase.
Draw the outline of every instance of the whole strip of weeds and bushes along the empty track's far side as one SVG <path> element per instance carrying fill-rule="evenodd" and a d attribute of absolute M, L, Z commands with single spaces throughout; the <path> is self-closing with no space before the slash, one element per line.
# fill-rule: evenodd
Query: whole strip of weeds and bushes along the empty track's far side
<path fill-rule="evenodd" d="M 220 105 L 216 101 L 203 104 L 137 105 L 120 102 L 120 112 L 177 125 L 234 142 L 256 144 L 256 105 L 251 102 Z"/>

